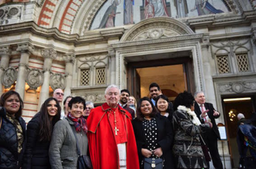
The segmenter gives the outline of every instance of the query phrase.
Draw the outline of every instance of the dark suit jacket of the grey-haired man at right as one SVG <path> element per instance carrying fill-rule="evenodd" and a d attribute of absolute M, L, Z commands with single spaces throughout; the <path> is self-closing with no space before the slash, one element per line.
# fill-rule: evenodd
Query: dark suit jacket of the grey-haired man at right
<path fill-rule="evenodd" d="M 206 107 L 206 110 L 209 110 L 209 112 L 207 112 L 207 114 L 208 114 L 209 119 L 211 120 L 211 123 L 213 123 L 212 130 L 213 130 L 214 134 L 216 134 L 216 137 L 218 139 L 220 139 L 220 132 L 219 132 L 218 127 L 217 127 L 216 122 L 215 122 L 215 119 L 219 118 L 220 114 L 218 116 L 213 116 L 213 110 L 215 110 L 215 109 L 213 108 L 212 103 L 204 103 L 204 105 Z M 201 123 L 204 123 L 204 121 L 202 119 L 200 119 L 201 110 L 200 110 L 200 107 L 199 107 L 198 103 L 195 103 L 195 113 L 196 113 L 196 116 L 201 121 Z"/>

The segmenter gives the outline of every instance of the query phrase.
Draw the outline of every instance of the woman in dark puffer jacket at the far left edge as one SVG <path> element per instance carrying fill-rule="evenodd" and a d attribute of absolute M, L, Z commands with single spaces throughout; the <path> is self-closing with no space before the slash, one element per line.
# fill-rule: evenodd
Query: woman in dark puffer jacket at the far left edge
<path fill-rule="evenodd" d="M 19 169 L 26 144 L 23 102 L 16 91 L 3 93 L 0 100 L 0 168 Z"/>

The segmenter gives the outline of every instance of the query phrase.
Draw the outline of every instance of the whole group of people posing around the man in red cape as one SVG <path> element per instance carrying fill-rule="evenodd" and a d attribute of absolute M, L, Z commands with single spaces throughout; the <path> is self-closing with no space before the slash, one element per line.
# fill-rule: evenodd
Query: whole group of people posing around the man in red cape
<path fill-rule="evenodd" d="M 101 106 L 67 96 L 62 111 L 64 93 L 57 89 L 27 127 L 19 93 L 3 93 L 0 168 L 77 168 L 79 155 L 89 156 L 95 169 L 209 168 L 209 154 L 214 167 L 223 168 L 220 113 L 204 93 L 179 93 L 173 104 L 157 83 L 149 93 L 137 102 L 129 90 L 110 85 Z"/>

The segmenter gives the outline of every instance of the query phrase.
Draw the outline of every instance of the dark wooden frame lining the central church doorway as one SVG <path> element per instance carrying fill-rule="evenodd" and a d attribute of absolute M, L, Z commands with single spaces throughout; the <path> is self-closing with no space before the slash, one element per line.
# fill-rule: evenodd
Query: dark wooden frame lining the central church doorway
<path fill-rule="evenodd" d="M 134 89 L 135 83 L 133 78 L 133 71 L 138 68 L 154 67 L 154 66 L 171 66 L 183 64 L 186 73 L 186 85 L 190 93 L 195 93 L 195 79 L 194 79 L 194 68 L 192 58 L 179 57 L 171 59 L 155 59 L 140 62 L 130 62 L 127 63 L 127 89 L 130 91 L 131 95 L 135 94 L 136 89 Z"/>

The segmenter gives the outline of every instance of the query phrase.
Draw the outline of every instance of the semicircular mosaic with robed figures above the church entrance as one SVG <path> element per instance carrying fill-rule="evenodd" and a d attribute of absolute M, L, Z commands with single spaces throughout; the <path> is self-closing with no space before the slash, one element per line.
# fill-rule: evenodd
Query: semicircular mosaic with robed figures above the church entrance
<path fill-rule="evenodd" d="M 108 0 L 91 29 L 130 25 L 154 17 L 185 18 L 229 12 L 224 0 Z"/>

